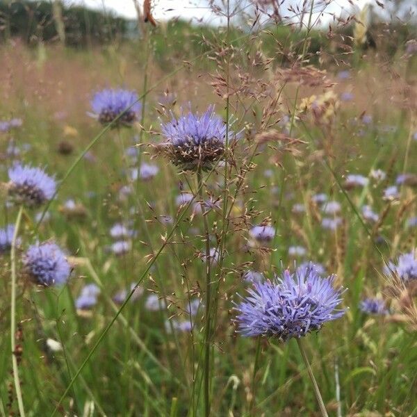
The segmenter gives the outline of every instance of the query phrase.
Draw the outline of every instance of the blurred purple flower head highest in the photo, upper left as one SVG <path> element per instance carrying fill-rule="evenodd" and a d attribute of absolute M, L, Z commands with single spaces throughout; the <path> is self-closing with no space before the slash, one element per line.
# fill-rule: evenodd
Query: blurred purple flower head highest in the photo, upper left
<path fill-rule="evenodd" d="M 93 117 L 101 124 L 111 123 L 123 113 L 113 126 L 131 126 L 138 119 L 142 104 L 138 101 L 136 91 L 122 88 L 104 89 L 96 92 L 91 101 L 91 108 Z"/>

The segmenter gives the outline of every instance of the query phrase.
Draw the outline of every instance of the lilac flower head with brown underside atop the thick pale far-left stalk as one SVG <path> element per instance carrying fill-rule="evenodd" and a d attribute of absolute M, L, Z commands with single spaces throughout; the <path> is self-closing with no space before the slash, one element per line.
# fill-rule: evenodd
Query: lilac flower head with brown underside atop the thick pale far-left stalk
<path fill-rule="evenodd" d="M 56 181 L 40 168 L 16 163 L 8 170 L 10 196 L 19 204 L 40 206 L 54 197 Z"/>

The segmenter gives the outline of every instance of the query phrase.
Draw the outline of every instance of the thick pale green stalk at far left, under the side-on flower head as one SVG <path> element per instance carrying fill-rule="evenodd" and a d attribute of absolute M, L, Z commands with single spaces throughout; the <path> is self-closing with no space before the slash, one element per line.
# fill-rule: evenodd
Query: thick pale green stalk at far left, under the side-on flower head
<path fill-rule="evenodd" d="M 19 407 L 20 417 L 24 417 L 24 406 L 22 391 L 20 390 L 19 368 L 17 365 L 16 351 L 16 240 L 19 233 L 20 221 L 22 220 L 23 206 L 20 206 L 17 213 L 15 231 L 12 238 L 12 247 L 10 250 L 10 263 L 12 266 L 12 294 L 10 300 L 10 345 L 12 347 L 13 379 L 15 381 L 17 405 Z"/>

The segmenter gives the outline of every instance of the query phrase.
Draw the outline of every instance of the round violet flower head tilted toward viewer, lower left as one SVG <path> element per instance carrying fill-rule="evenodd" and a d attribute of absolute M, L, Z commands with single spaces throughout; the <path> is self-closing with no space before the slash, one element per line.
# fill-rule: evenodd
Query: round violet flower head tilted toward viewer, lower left
<path fill-rule="evenodd" d="M 31 245 L 23 255 L 24 272 L 44 286 L 63 285 L 70 277 L 70 264 L 56 243 Z"/>

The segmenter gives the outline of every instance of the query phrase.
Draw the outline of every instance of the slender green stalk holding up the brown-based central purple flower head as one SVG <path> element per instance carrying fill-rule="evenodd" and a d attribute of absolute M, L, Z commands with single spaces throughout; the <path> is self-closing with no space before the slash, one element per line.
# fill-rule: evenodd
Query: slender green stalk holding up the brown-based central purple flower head
<path fill-rule="evenodd" d="M 208 222 L 206 211 L 203 205 L 203 183 L 202 170 L 197 171 L 198 195 L 202 206 L 202 216 L 204 222 L 204 234 L 206 236 L 206 327 L 204 334 L 204 415 L 210 416 L 210 304 L 211 304 L 211 259 L 210 259 L 210 235 L 208 233 Z"/>

